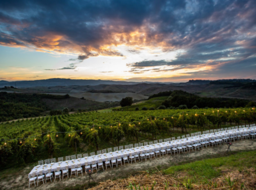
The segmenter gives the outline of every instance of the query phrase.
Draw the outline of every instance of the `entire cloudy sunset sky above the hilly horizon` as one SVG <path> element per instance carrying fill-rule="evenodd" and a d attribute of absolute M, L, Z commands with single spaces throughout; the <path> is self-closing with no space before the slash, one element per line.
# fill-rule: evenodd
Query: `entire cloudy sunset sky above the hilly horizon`
<path fill-rule="evenodd" d="M 256 0 L 0 1 L 0 80 L 256 79 Z"/>

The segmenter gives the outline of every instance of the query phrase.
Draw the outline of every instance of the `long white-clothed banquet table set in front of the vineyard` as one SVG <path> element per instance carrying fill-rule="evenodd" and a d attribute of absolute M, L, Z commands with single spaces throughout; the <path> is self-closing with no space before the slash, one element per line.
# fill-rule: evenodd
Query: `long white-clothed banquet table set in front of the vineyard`
<path fill-rule="evenodd" d="M 173 140 L 169 142 L 162 142 L 162 143 L 156 143 L 156 144 L 151 144 L 151 145 L 146 145 L 141 147 L 134 147 L 134 148 L 119 150 L 115 152 L 109 152 L 106 154 L 88 156 L 80 159 L 73 159 L 70 161 L 62 161 L 62 162 L 56 162 L 56 163 L 50 163 L 50 164 L 44 164 L 44 165 L 37 165 L 30 171 L 29 175 L 32 174 L 33 172 L 35 172 L 35 174 L 39 174 L 40 170 L 43 170 L 43 173 L 47 173 L 48 168 L 51 168 L 51 171 L 54 171 L 57 169 L 58 166 L 60 167 L 60 170 L 61 170 L 61 169 L 65 169 L 67 165 L 69 168 L 71 168 L 71 164 L 75 164 L 75 166 L 77 166 L 77 164 L 79 163 L 81 165 L 85 165 L 86 162 L 88 162 L 88 164 L 91 164 L 93 162 L 98 163 L 100 159 L 102 159 L 102 161 L 106 161 L 106 159 L 111 160 L 111 159 L 117 159 L 118 157 L 123 158 L 125 156 L 142 153 L 143 151 L 151 152 L 151 151 L 160 150 L 162 148 L 166 149 L 166 148 L 172 148 L 174 146 L 176 147 L 176 146 L 186 145 L 187 143 L 193 144 L 199 140 L 200 141 L 206 141 L 208 139 L 211 140 L 213 137 L 222 138 L 223 135 L 231 136 L 231 135 L 237 135 L 238 133 L 245 133 L 245 132 L 251 133 L 255 129 L 256 129 L 255 126 L 249 127 L 249 128 L 231 129 L 231 130 L 214 132 L 210 134 L 202 134 L 194 137 L 192 136 L 189 138 Z"/>

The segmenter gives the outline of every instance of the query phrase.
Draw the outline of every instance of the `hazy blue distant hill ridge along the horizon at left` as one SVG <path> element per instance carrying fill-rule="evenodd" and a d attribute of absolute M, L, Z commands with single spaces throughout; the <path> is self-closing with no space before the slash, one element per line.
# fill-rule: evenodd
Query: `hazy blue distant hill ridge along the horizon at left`
<path fill-rule="evenodd" d="M 126 82 L 126 81 L 110 81 L 110 80 L 83 80 L 83 79 L 45 79 L 45 80 L 35 80 L 35 81 L 2 81 L 0 82 L 0 87 L 5 86 L 14 86 L 17 88 L 28 88 L 28 87 L 51 87 L 51 86 L 72 86 L 72 85 L 79 85 L 79 86 L 95 86 L 100 84 L 107 84 L 107 85 L 131 85 L 131 84 L 138 84 L 139 82 Z M 152 82 L 145 82 L 145 83 L 152 83 Z"/>

